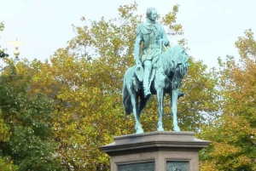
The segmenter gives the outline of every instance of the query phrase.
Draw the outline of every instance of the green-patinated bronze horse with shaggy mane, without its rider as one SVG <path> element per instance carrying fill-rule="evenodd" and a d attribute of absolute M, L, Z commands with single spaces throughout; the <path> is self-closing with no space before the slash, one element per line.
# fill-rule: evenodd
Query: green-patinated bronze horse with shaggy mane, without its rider
<path fill-rule="evenodd" d="M 157 95 L 158 101 L 158 131 L 164 131 L 162 124 L 163 99 L 167 93 L 170 94 L 172 101 L 173 130 L 180 131 L 177 125 L 177 100 L 181 81 L 189 69 L 188 60 L 189 56 L 184 48 L 180 45 L 175 45 L 167 48 L 160 55 L 160 59 L 151 72 L 150 91 L 152 94 Z M 122 95 L 126 115 L 130 115 L 133 112 L 136 121 L 136 134 L 142 134 L 144 131 L 140 123 L 140 116 L 144 107 L 148 104 L 150 96 L 144 97 L 142 77 L 139 77 L 137 72 L 139 72 L 137 66 L 125 71 Z"/>

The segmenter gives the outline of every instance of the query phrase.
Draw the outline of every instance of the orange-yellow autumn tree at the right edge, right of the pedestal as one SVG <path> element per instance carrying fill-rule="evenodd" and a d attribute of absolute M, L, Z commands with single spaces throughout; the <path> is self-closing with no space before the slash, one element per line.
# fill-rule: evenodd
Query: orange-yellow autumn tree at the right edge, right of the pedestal
<path fill-rule="evenodd" d="M 238 63 L 232 56 L 219 60 L 223 113 L 203 128 L 202 137 L 212 145 L 202 151 L 201 170 L 256 170 L 256 42 L 251 30 L 238 38 L 236 48 Z"/>

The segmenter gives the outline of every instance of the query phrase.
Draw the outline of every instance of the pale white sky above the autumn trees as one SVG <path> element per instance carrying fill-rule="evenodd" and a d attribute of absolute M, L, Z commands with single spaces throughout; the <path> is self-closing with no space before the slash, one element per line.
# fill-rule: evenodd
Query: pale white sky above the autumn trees
<path fill-rule="evenodd" d="M 80 18 L 99 20 L 118 17 L 119 5 L 134 0 L 0 0 L 0 22 L 5 29 L 0 32 L 0 46 L 8 48 L 14 56 L 9 41 L 15 38 L 20 46 L 20 58 L 48 59 L 58 48 L 67 46 L 75 34 L 72 24 L 81 26 Z M 203 60 L 209 67 L 218 66 L 218 56 L 226 54 L 238 58 L 235 42 L 251 28 L 256 33 L 255 0 L 137 0 L 138 13 L 145 14 L 148 7 L 158 13 L 172 11 L 179 4 L 177 23 L 183 26 L 183 37 L 188 40 L 189 55 Z M 177 43 L 171 37 L 171 43 Z"/>

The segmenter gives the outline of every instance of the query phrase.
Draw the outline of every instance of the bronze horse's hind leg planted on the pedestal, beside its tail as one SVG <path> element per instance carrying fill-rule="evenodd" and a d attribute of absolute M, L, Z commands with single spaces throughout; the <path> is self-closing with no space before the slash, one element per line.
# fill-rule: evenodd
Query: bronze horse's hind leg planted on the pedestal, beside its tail
<path fill-rule="evenodd" d="M 136 134 L 142 134 L 144 133 L 143 131 L 143 127 L 141 125 L 140 122 L 140 114 L 138 112 L 138 100 L 137 97 L 135 95 L 131 96 L 131 104 L 132 104 L 132 111 L 133 111 L 133 115 L 135 118 L 135 130 L 136 130 Z"/>

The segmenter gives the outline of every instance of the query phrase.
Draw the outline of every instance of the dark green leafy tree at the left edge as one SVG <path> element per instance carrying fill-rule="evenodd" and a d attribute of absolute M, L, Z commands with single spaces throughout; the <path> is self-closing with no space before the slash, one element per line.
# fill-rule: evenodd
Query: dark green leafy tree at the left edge
<path fill-rule="evenodd" d="M 52 100 L 33 94 L 30 81 L 30 75 L 19 73 L 12 64 L 0 76 L 1 169 L 60 170 L 51 129 Z"/>

